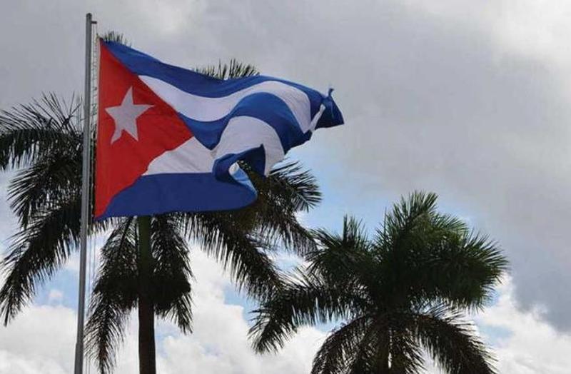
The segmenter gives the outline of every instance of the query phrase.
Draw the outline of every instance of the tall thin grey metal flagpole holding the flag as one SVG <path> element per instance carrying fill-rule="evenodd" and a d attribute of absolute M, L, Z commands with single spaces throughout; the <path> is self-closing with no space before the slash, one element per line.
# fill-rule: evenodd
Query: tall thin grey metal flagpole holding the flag
<path fill-rule="evenodd" d="M 77 338 L 74 373 L 81 374 L 84 369 L 84 319 L 85 319 L 85 273 L 87 252 L 87 225 L 89 223 L 89 176 L 91 128 L 91 29 L 94 21 L 91 13 L 85 19 L 85 91 L 84 91 L 84 148 L 81 171 L 81 240 L 79 251 L 79 295 L 77 300 Z"/>

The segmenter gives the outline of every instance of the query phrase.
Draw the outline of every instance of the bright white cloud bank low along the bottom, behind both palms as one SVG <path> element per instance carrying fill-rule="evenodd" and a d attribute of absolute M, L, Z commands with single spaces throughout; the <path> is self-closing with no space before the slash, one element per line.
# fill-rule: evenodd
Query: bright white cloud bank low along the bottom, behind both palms
<path fill-rule="evenodd" d="M 246 338 L 243 306 L 228 303 L 231 287 L 218 263 L 201 251 L 192 255 L 196 286 L 194 333 L 181 335 L 176 326 L 158 321 L 157 365 L 160 373 L 308 373 L 325 333 L 302 328 L 276 355 L 257 355 Z M 54 290 L 51 295 L 57 296 Z M 134 316 L 133 316 L 134 317 Z M 116 373 L 138 369 L 136 319 L 131 318 L 126 343 L 118 355 Z M 571 367 L 571 338 L 560 335 L 541 318 L 541 310 L 517 308 L 512 281 L 499 288 L 495 305 L 476 318 L 490 341 L 500 373 L 563 374 Z M 69 373 L 73 365 L 76 315 L 62 306 L 34 305 L 8 328 L 0 328 L 0 374 Z M 438 370 L 430 368 L 431 373 Z"/>

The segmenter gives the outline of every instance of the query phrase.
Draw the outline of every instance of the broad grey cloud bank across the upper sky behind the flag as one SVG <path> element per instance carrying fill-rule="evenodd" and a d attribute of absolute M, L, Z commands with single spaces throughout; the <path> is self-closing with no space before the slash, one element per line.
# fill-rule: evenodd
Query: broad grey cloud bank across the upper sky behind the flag
<path fill-rule="evenodd" d="M 333 84 L 348 126 L 315 144 L 342 166 L 328 177 L 339 203 L 440 193 L 502 243 L 522 307 L 545 305 L 550 322 L 571 328 L 571 109 L 566 77 L 545 61 L 400 1 L 33 4 L 0 14 L 1 106 L 81 90 L 86 9 L 102 31 L 123 31 L 172 63 L 237 57 L 323 90 Z"/>

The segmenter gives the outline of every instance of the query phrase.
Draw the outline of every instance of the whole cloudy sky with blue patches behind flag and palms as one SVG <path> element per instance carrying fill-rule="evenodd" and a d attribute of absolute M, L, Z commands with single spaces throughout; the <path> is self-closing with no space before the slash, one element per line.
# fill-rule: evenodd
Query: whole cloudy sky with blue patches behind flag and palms
<path fill-rule="evenodd" d="M 326 91 L 345 126 L 315 133 L 290 158 L 317 176 L 323 203 L 302 217 L 373 230 L 415 189 L 500 243 L 511 262 L 497 300 L 475 316 L 501 373 L 571 366 L 571 4 L 541 0 L 7 0 L 0 13 L 0 108 L 82 92 L 84 14 L 98 31 L 179 66 L 236 58 Z M 14 221 L 0 176 L 0 239 Z M 195 333 L 158 326 L 161 373 L 308 373 L 327 331 L 308 327 L 278 355 L 246 340 L 251 303 L 200 248 Z M 285 261 L 282 259 L 282 261 Z M 68 373 L 76 259 L 0 328 L 0 374 Z M 136 368 L 131 323 L 117 373 Z"/>

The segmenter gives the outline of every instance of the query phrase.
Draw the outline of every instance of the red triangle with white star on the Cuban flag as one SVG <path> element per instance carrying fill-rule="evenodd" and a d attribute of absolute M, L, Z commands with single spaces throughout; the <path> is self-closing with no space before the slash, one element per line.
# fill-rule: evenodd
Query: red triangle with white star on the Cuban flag
<path fill-rule="evenodd" d="M 129 71 L 101 42 L 96 148 L 95 216 L 148 164 L 193 134 L 178 113 Z"/>

